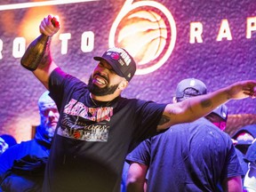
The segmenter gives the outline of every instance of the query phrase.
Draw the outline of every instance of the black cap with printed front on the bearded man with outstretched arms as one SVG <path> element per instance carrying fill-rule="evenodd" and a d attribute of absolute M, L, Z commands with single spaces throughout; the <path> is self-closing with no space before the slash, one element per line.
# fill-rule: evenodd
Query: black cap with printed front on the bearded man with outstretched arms
<path fill-rule="evenodd" d="M 93 57 L 94 60 L 106 60 L 115 70 L 118 76 L 123 76 L 128 82 L 131 81 L 136 71 L 136 62 L 123 48 L 109 48 L 101 57 Z"/>

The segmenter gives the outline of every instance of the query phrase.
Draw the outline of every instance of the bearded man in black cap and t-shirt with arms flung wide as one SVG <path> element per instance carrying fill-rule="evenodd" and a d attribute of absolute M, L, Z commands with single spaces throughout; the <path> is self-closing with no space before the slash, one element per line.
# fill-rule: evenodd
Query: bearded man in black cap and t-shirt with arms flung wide
<path fill-rule="evenodd" d="M 57 16 L 48 15 L 39 28 L 44 36 L 53 36 L 60 25 Z M 43 191 L 120 191 L 125 156 L 141 140 L 205 116 L 228 100 L 256 96 L 256 81 L 249 80 L 179 104 L 127 99 L 121 93 L 136 72 L 136 62 L 124 48 L 111 47 L 94 57 L 97 64 L 85 84 L 57 66 L 51 38 L 42 36 L 28 45 L 20 62 L 50 90 L 60 112 Z M 42 39 L 45 49 L 40 49 Z"/>

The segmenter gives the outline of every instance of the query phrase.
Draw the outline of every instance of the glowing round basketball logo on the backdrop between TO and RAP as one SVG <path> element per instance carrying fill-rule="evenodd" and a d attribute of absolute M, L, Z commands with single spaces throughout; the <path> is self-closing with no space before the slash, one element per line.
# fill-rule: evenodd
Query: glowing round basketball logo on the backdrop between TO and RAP
<path fill-rule="evenodd" d="M 137 61 L 136 75 L 160 68 L 172 54 L 176 25 L 172 13 L 154 1 L 127 0 L 113 22 L 109 47 L 123 47 Z"/>

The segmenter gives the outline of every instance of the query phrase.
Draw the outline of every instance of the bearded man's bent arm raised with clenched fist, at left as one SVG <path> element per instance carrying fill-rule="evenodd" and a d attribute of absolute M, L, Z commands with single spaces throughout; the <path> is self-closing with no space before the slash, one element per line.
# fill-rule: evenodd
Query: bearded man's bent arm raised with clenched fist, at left
<path fill-rule="evenodd" d="M 54 22 L 52 22 L 54 18 Z M 21 65 L 33 71 L 36 78 L 48 89 L 49 76 L 58 66 L 53 62 L 50 44 L 51 36 L 60 29 L 58 17 L 48 15 L 40 24 L 41 36 L 38 36 L 31 44 L 21 58 Z M 38 67 L 35 68 L 35 65 Z"/>

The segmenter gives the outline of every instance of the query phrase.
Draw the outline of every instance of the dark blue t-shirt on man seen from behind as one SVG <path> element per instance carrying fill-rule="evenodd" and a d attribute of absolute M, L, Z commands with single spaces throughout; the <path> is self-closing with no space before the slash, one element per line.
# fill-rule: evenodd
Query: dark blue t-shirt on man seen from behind
<path fill-rule="evenodd" d="M 228 134 L 205 118 L 143 141 L 126 160 L 149 166 L 149 192 L 217 191 L 225 178 L 243 174 Z"/>

